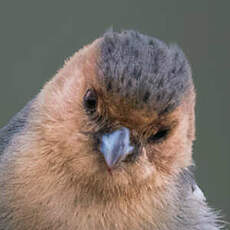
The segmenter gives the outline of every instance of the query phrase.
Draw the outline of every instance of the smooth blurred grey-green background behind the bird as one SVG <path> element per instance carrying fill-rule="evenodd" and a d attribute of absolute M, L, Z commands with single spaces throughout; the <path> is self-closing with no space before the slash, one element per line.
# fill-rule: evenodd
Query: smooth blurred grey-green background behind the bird
<path fill-rule="evenodd" d="M 230 1 L 0 2 L 0 126 L 82 46 L 135 29 L 187 55 L 197 89 L 196 176 L 230 221 Z"/>

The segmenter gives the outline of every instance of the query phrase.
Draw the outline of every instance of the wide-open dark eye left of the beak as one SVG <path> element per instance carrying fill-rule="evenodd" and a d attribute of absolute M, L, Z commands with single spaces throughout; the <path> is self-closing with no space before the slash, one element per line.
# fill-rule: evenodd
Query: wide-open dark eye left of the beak
<path fill-rule="evenodd" d="M 97 94 L 95 90 L 88 89 L 83 100 L 86 111 L 89 113 L 94 113 L 97 107 Z"/>

